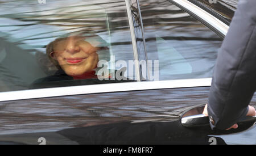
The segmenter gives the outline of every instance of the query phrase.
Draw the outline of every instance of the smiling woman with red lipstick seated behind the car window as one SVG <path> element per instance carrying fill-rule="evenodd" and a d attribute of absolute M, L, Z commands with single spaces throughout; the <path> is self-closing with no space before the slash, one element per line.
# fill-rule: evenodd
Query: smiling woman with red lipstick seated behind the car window
<path fill-rule="evenodd" d="M 67 37 L 55 39 L 46 48 L 49 60 L 58 70 L 53 75 L 36 80 L 30 86 L 31 88 L 131 81 L 127 78 L 121 79 L 121 81 L 116 79 L 115 75 L 119 74 L 117 70 L 114 70 L 113 73 L 110 73 L 111 71 L 100 72 L 103 68 L 102 66 L 98 67 L 99 60 L 106 61 L 108 64 L 110 56 L 109 48 L 105 47 L 106 41 L 100 36 L 84 36 L 82 33 L 69 33 L 65 36 Z M 122 77 L 123 73 L 120 75 Z"/>

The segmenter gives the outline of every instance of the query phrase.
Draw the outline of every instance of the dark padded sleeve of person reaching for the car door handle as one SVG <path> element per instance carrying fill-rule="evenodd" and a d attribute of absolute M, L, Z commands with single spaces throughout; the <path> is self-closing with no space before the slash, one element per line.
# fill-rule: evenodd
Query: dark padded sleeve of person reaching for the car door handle
<path fill-rule="evenodd" d="M 240 0 L 218 52 L 208 100 L 212 129 L 232 127 L 248 112 L 256 88 L 256 1 Z"/>

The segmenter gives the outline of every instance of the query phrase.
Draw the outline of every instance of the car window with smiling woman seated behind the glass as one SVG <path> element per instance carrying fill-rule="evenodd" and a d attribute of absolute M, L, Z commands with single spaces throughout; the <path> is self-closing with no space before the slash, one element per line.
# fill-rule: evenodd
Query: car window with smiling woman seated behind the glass
<path fill-rule="evenodd" d="M 0 92 L 136 79 L 125 2 L 3 1 L 0 21 Z"/>

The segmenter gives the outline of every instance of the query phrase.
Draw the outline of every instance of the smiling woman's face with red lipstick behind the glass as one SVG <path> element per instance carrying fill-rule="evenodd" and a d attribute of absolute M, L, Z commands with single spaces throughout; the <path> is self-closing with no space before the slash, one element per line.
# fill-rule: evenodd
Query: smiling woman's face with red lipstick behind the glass
<path fill-rule="evenodd" d="M 79 76 L 97 68 L 96 48 L 84 39 L 85 37 L 81 36 L 71 36 L 53 45 L 51 57 L 56 59 L 70 76 Z"/>

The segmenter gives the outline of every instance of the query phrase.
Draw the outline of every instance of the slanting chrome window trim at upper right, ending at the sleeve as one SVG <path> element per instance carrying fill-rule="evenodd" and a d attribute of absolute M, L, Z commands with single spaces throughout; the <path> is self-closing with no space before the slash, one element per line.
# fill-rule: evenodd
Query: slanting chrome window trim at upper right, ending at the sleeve
<path fill-rule="evenodd" d="M 210 15 L 207 11 L 201 9 L 200 7 L 194 5 L 193 3 L 187 0 L 168 0 L 168 1 L 183 7 L 183 9 L 189 10 L 189 12 L 192 12 L 198 18 L 208 23 L 211 27 L 213 27 L 218 32 L 220 32 L 222 36 L 226 36 L 226 33 L 228 33 L 228 29 L 229 29 L 228 25 L 226 25 L 224 22 L 221 22 L 221 20 L 217 19 L 213 15 Z"/>

